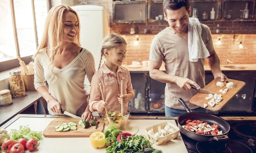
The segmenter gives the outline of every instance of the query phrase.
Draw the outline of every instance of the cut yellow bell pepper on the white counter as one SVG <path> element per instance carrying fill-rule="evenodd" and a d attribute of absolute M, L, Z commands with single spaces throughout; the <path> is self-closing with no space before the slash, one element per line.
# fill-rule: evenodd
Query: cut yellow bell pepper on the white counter
<path fill-rule="evenodd" d="M 90 135 L 90 142 L 93 148 L 101 148 L 106 144 L 106 138 L 102 132 L 93 132 Z"/>

